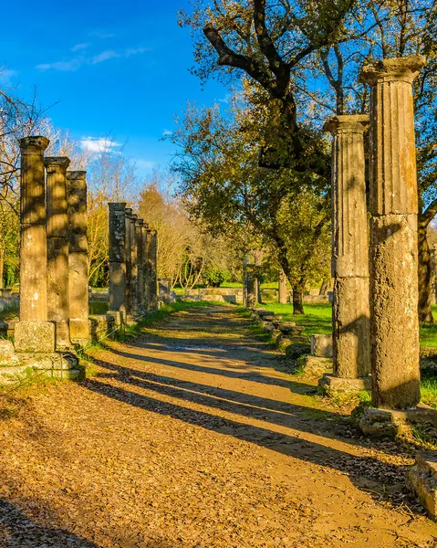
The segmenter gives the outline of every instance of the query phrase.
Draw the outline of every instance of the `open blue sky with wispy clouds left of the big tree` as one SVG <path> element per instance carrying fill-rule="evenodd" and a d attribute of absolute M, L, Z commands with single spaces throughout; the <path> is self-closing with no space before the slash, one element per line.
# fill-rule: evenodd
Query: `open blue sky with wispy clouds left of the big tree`
<path fill-rule="evenodd" d="M 21 0 L 3 6 L 0 85 L 29 98 L 36 87 L 48 116 L 75 139 L 110 135 L 125 143 L 138 174 L 164 166 L 172 145 L 173 114 L 186 102 L 210 104 L 226 90 L 202 90 L 192 76 L 192 44 L 176 24 L 186 0 Z M 92 143 L 89 144 L 92 146 Z"/>

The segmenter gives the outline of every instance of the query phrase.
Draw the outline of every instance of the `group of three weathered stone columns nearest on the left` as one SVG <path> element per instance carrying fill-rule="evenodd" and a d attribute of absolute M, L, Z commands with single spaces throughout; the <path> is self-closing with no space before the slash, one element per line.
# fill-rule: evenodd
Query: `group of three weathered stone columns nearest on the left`
<path fill-rule="evenodd" d="M 46 137 L 21 150 L 20 320 L 16 351 L 54 353 L 88 342 L 86 172 L 45 157 Z"/>

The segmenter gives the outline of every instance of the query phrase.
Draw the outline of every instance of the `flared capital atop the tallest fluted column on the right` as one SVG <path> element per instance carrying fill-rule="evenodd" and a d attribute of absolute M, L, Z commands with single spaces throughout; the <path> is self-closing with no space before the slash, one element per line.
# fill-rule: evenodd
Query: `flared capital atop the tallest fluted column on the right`
<path fill-rule="evenodd" d="M 359 81 L 370 86 L 390 81 L 403 81 L 412 84 L 425 63 L 426 57 L 423 55 L 382 59 L 372 65 L 363 67 L 359 75 Z"/>

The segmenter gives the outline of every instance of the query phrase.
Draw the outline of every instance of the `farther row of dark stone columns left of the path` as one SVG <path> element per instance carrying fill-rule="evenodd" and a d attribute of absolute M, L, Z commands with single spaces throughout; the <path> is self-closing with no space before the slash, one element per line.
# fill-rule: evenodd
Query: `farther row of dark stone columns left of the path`
<path fill-rule="evenodd" d="M 109 204 L 109 313 L 120 321 L 158 306 L 156 230 L 125 203 Z"/>

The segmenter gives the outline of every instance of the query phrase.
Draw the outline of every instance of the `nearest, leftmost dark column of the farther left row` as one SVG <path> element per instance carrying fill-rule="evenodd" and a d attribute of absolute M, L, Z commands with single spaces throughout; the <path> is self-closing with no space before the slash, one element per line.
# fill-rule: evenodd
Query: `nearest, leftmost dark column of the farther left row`
<path fill-rule="evenodd" d="M 126 319 L 126 204 L 109 204 L 109 311 Z"/>

